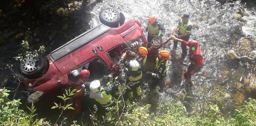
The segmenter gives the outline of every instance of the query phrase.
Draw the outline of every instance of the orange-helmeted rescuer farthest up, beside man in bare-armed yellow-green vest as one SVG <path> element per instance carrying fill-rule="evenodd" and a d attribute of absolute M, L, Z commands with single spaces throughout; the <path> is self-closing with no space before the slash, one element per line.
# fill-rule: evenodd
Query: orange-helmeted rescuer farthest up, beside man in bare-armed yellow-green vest
<path fill-rule="evenodd" d="M 161 30 L 161 34 L 159 35 L 161 38 L 165 35 L 165 27 L 157 21 L 157 16 L 151 15 L 148 19 L 148 26 L 146 28 L 146 32 L 148 32 L 148 45 L 147 48 L 151 47 L 151 40 L 159 35 Z"/>

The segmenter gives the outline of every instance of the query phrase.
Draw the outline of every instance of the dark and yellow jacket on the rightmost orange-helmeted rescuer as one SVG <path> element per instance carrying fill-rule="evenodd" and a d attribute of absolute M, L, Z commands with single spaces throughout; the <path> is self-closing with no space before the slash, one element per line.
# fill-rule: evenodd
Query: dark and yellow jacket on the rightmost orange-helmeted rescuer
<path fill-rule="evenodd" d="M 168 60 L 159 60 L 158 57 L 156 59 L 155 73 L 152 74 L 152 77 L 157 79 L 163 79 L 166 76 L 168 68 Z"/>

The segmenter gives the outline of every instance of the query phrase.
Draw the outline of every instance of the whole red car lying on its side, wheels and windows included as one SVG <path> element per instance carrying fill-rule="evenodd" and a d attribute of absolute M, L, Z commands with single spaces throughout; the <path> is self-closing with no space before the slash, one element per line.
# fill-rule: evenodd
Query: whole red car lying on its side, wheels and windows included
<path fill-rule="evenodd" d="M 114 74 L 121 51 L 134 41 L 147 43 L 141 22 L 116 9 L 103 9 L 101 24 L 80 34 L 46 57 L 30 57 L 20 64 L 23 84 L 29 92 L 27 102 L 53 96 L 66 87 L 80 87 L 77 79 L 82 68 L 90 71 L 88 81 Z"/>

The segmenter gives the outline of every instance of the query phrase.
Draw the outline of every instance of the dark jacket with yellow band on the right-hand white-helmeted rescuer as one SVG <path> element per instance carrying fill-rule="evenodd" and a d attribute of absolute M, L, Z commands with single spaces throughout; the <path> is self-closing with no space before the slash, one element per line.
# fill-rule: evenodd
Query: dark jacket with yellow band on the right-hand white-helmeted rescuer
<path fill-rule="evenodd" d="M 142 79 L 142 71 L 141 69 L 138 69 L 137 71 L 130 70 L 128 72 L 128 80 L 130 85 L 134 86 L 135 84 L 139 84 Z"/>

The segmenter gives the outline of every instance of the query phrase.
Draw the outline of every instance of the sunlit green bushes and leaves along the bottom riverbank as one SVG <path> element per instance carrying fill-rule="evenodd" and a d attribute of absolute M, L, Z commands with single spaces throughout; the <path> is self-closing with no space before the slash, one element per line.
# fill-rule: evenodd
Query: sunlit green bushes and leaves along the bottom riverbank
<path fill-rule="evenodd" d="M 73 91 L 66 90 L 67 94 L 64 96 L 70 97 L 73 95 Z M 206 92 L 201 90 L 201 93 Z M 19 109 L 20 100 L 9 100 L 7 98 L 8 90 L 0 89 L 0 125 L 8 126 L 49 126 L 51 123 L 45 121 L 45 119 L 36 119 L 36 108 L 32 104 L 31 107 L 28 107 L 29 113 L 26 113 L 24 110 Z M 216 97 L 221 97 L 223 92 L 218 89 L 214 89 L 211 93 L 215 94 Z M 221 98 L 211 98 L 210 96 L 204 95 L 203 98 L 206 99 L 199 100 L 196 103 L 190 103 L 192 107 L 191 113 L 189 113 L 184 106 L 188 104 L 185 99 L 190 98 L 185 92 L 182 95 L 181 100 L 168 100 L 163 103 L 160 103 L 155 111 L 150 111 L 150 105 L 146 104 L 143 106 L 138 105 L 137 103 L 128 106 L 128 109 L 122 109 L 119 118 L 117 118 L 116 108 L 112 112 L 116 118 L 108 118 L 109 125 L 118 125 L 118 126 L 256 126 L 256 100 L 249 98 L 249 101 L 245 101 L 243 105 L 237 107 L 235 112 L 230 116 L 225 113 L 222 113 L 220 110 Z M 60 96 L 59 96 L 60 97 Z M 204 104 L 202 105 L 202 102 Z M 56 103 L 57 104 L 57 103 Z M 58 105 L 58 104 L 57 104 Z M 56 105 L 56 106 L 57 106 Z M 53 108 L 64 108 L 70 107 L 69 104 Z M 72 109 L 72 108 L 70 108 Z M 91 116 L 94 116 L 92 119 L 93 125 L 102 125 L 103 121 L 95 119 L 95 114 L 98 109 L 95 106 L 95 112 L 92 112 Z M 79 126 L 75 124 L 73 126 Z"/>

